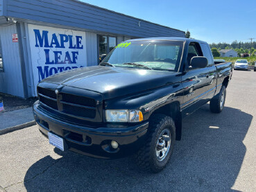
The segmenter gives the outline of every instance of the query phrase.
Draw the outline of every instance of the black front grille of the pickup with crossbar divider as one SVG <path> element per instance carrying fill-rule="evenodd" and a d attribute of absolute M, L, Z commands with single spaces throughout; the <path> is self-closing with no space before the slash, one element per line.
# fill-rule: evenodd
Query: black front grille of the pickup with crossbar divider
<path fill-rule="evenodd" d="M 42 87 L 37 87 L 37 92 L 40 102 L 46 107 L 51 107 L 62 114 L 79 119 L 96 118 L 97 106 L 94 98 L 76 96 L 65 92 L 60 92 L 57 96 L 54 89 Z"/>

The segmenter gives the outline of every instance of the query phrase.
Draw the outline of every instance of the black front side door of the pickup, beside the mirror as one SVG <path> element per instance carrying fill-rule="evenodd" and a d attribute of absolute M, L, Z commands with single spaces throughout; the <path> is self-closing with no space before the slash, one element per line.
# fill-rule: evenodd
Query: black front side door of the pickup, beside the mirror
<path fill-rule="evenodd" d="M 182 85 L 184 87 L 184 98 L 182 104 L 182 114 L 184 116 L 191 114 L 198 107 L 207 103 L 207 92 L 209 90 L 209 69 L 194 69 L 191 66 L 191 58 L 195 56 L 204 56 L 198 42 L 191 42 L 188 47 L 187 64 L 185 73 L 182 76 Z"/>

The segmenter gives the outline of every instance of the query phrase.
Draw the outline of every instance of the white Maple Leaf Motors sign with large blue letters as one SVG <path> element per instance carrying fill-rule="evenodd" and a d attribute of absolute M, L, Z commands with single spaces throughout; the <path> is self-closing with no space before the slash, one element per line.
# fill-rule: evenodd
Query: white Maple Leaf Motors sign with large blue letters
<path fill-rule="evenodd" d="M 33 79 L 86 66 L 85 32 L 28 25 Z"/>

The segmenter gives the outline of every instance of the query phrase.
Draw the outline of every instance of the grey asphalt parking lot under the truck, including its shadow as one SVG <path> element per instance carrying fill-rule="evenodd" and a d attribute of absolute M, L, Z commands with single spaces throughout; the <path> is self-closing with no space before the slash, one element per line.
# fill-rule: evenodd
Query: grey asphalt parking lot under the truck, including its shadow
<path fill-rule="evenodd" d="M 256 191 L 256 72 L 234 71 L 225 109 L 183 121 L 182 140 L 161 173 L 133 157 L 60 152 L 36 126 L 0 136 L 0 191 Z"/>

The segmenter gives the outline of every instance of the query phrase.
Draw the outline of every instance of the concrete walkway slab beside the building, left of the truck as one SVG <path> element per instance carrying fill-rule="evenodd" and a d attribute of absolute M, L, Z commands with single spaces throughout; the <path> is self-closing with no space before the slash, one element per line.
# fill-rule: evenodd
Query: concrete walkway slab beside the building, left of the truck
<path fill-rule="evenodd" d="M 32 107 L 0 113 L 0 130 L 12 128 L 34 120 Z"/>

